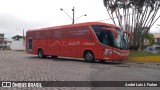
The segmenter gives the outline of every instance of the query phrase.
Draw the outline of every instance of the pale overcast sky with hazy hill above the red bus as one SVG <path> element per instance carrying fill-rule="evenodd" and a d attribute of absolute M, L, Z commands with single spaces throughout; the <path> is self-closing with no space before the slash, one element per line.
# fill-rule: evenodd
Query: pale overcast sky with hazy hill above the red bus
<path fill-rule="evenodd" d="M 72 16 L 75 7 L 76 23 L 99 21 L 110 18 L 103 5 L 103 0 L 0 0 L 0 33 L 5 37 L 22 35 L 23 29 L 36 29 L 57 25 L 71 24 L 71 19 L 60 10 L 63 8 Z M 112 23 L 110 20 L 105 22 Z M 160 32 L 153 26 L 152 32 Z M 160 28 L 160 27 L 159 27 Z"/>

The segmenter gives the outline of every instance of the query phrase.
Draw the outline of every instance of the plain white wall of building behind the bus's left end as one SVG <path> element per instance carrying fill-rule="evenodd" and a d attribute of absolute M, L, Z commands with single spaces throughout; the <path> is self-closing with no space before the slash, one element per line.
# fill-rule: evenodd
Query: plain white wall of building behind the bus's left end
<path fill-rule="evenodd" d="M 23 39 L 18 41 L 12 40 L 10 48 L 12 50 L 25 50 L 25 43 L 23 43 Z"/>

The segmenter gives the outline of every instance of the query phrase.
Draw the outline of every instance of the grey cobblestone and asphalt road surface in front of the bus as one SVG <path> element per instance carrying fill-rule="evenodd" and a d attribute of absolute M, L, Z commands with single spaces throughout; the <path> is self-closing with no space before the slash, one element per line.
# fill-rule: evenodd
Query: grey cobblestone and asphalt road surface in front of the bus
<path fill-rule="evenodd" d="M 0 50 L 0 81 L 160 81 L 160 63 L 86 63 L 83 60 L 64 58 L 41 59 L 25 52 Z M 0 90 L 2 89 L 10 90 L 9 88 L 0 88 Z M 33 88 L 27 89 L 34 90 Z M 37 89 L 135 90 L 136 88 L 62 87 L 36 88 L 35 90 Z M 159 90 L 158 88 L 140 87 L 140 90 L 145 89 Z"/>

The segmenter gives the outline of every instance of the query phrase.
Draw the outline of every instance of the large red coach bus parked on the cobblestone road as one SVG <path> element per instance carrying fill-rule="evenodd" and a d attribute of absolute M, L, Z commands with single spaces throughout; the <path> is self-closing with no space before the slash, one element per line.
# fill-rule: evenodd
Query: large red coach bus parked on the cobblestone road
<path fill-rule="evenodd" d="M 102 22 L 87 22 L 28 30 L 26 52 L 43 58 L 84 58 L 87 62 L 99 60 L 126 60 L 128 43 L 120 27 Z"/>

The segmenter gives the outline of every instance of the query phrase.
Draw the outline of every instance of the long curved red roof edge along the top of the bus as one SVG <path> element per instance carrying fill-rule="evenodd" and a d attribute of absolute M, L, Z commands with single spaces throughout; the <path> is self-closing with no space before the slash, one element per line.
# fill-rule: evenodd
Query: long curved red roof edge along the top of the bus
<path fill-rule="evenodd" d="M 70 27 L 79 27 L 79 26 L 90 26 L 90 25 L 104 25 L 104 26 L 112 26 L 119 28 L 118 26 L 114 24 L 109 23 L 103 23 L 103 22 L 85 22 L 85 23 L 78 23 L 78 24 L 69 24 L 69 25 L 62 25 L 62 26 L 54 26 L 54 27 L 47 27 L 47 28 L 41 28 L 41 29 L 31 29 L 28 31 L 41 31 L 41 30 L 48 30 L 48 29 L 60 29 L 60 28 L 70 28 Z"/>

